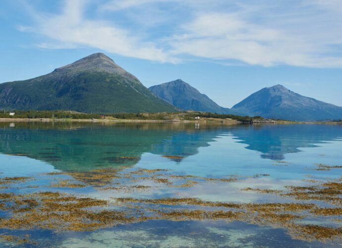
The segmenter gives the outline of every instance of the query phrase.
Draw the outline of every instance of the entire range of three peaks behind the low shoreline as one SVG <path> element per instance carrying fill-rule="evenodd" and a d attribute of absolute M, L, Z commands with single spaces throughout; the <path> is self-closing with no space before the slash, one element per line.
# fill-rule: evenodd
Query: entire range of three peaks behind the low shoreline
<path fill-rule="evenodd" d="M 342 107 L 299 95 L 282 85 L 263 88 L 231 109 L 219 106 L 181 79 L 148 89 L 102 53 L 92 54 L 43 76 L 1 83 L 0 109 L 84 113 L 192 110 L 292 121 L 342 119 Z"/>

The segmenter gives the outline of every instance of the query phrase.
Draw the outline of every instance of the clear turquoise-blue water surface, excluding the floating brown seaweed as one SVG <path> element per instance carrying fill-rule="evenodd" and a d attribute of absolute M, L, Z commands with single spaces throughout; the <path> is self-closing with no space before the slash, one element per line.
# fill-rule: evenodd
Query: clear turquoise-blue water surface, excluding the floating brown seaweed
<path fill-rule="evenodd" d="M 98 199 L 110 199 L 115 194 L 138 198 L 196 197 L 241 204 L 287 202 L 285 197 L 241 189 L 277 190 L 289 185 L 304 186 L 307 179 L 341 178 L 342 169 L 315 170 L 317 164 L 342 165 L 341 125 L 0 123 L 0 177 L 35 177 L 32 182 L 1 189 L 3 192 L 59 190 Z M 96 190 L 92 185 L 52 189 L 47 185 L 56 179 L 43 175 L 122 166 L 123 171 L 168 169 L 176 175 L 237 180 L 114 193 Z M 6 211 L 1 212 L 6 216 Z M 342 227 L 342 222 L 331 221 L 341 216 L 310 218 L 305 221 Z M 325 243 L 305 241 L 291 236 L 281 225 L 221 219 L 147 220 L 89 232 L 0 230 L 0 235 L 29 234 L 36 244 L 20 244 L 28 247 L 338 247 L 340 242 L 339 237 Z M 12 245 L 13 242 L 2 241 L 2 246 Z"/>

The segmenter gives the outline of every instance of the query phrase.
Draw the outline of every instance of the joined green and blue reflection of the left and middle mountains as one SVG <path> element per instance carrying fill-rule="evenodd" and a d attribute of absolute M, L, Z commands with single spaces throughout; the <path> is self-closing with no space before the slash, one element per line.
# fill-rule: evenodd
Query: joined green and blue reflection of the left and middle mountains
<path fill-rule="evenodd" d="M 184 123 L 0 124 L 0 152 L 26 156 L 52 164 L 59 170 L 92 170 L 115 165 L 133 166 L 150 152 L 181 162 L 198 153 L 199 147 L 221 134 L 225 127 Z"/>

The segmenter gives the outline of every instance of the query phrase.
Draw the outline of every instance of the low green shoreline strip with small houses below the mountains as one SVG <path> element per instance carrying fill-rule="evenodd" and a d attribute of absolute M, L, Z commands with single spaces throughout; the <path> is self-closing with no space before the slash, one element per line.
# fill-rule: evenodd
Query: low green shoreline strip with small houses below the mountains
<path fill-rule="evenodd" d="M 13 115 L 14 114 L 14 115 Z M 341 124 L 342 120 L 321 122 L 294 122 L 285 120 L 265 119 L 260 116 L 237 116 L 199 111 L 184 111 L 174 113 L 112 113 L 94 114 L 75 111 L 15 111 L 0 113 L 0 122 L 210 122 L 222 124 Z"/>

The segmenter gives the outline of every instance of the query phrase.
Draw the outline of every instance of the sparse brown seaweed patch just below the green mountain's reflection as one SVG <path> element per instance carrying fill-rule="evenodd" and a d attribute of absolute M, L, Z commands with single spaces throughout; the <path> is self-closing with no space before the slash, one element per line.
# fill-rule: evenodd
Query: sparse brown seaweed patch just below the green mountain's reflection
<path fill-rule="evenodd" d="M 97 169 L 88 172 L 51 172 L 43 176 L 71 176 L 71 179 L 63 180 L 54 178 L 52 187 L 84 187 L 92 186 L 99 190 L 118 190 L 131 192 L 134 189 L 148 189 L 159 187 L 186 188 L 193 187 L 203 182 L 230 183 L 238 180 L 236 176 L 228 178 L 208 178 L 193 175 L 174 175 L 168 169 L 143 169 L 123 170 L 118 169 Z M 191 180 L 190 180 L 191 179 Z M 56 183 L 56 180 L 59 180 Z M 148 184 L 149 186 L 144 186 Z M 151 186 L 152 185 L 152 186 Z"/>

